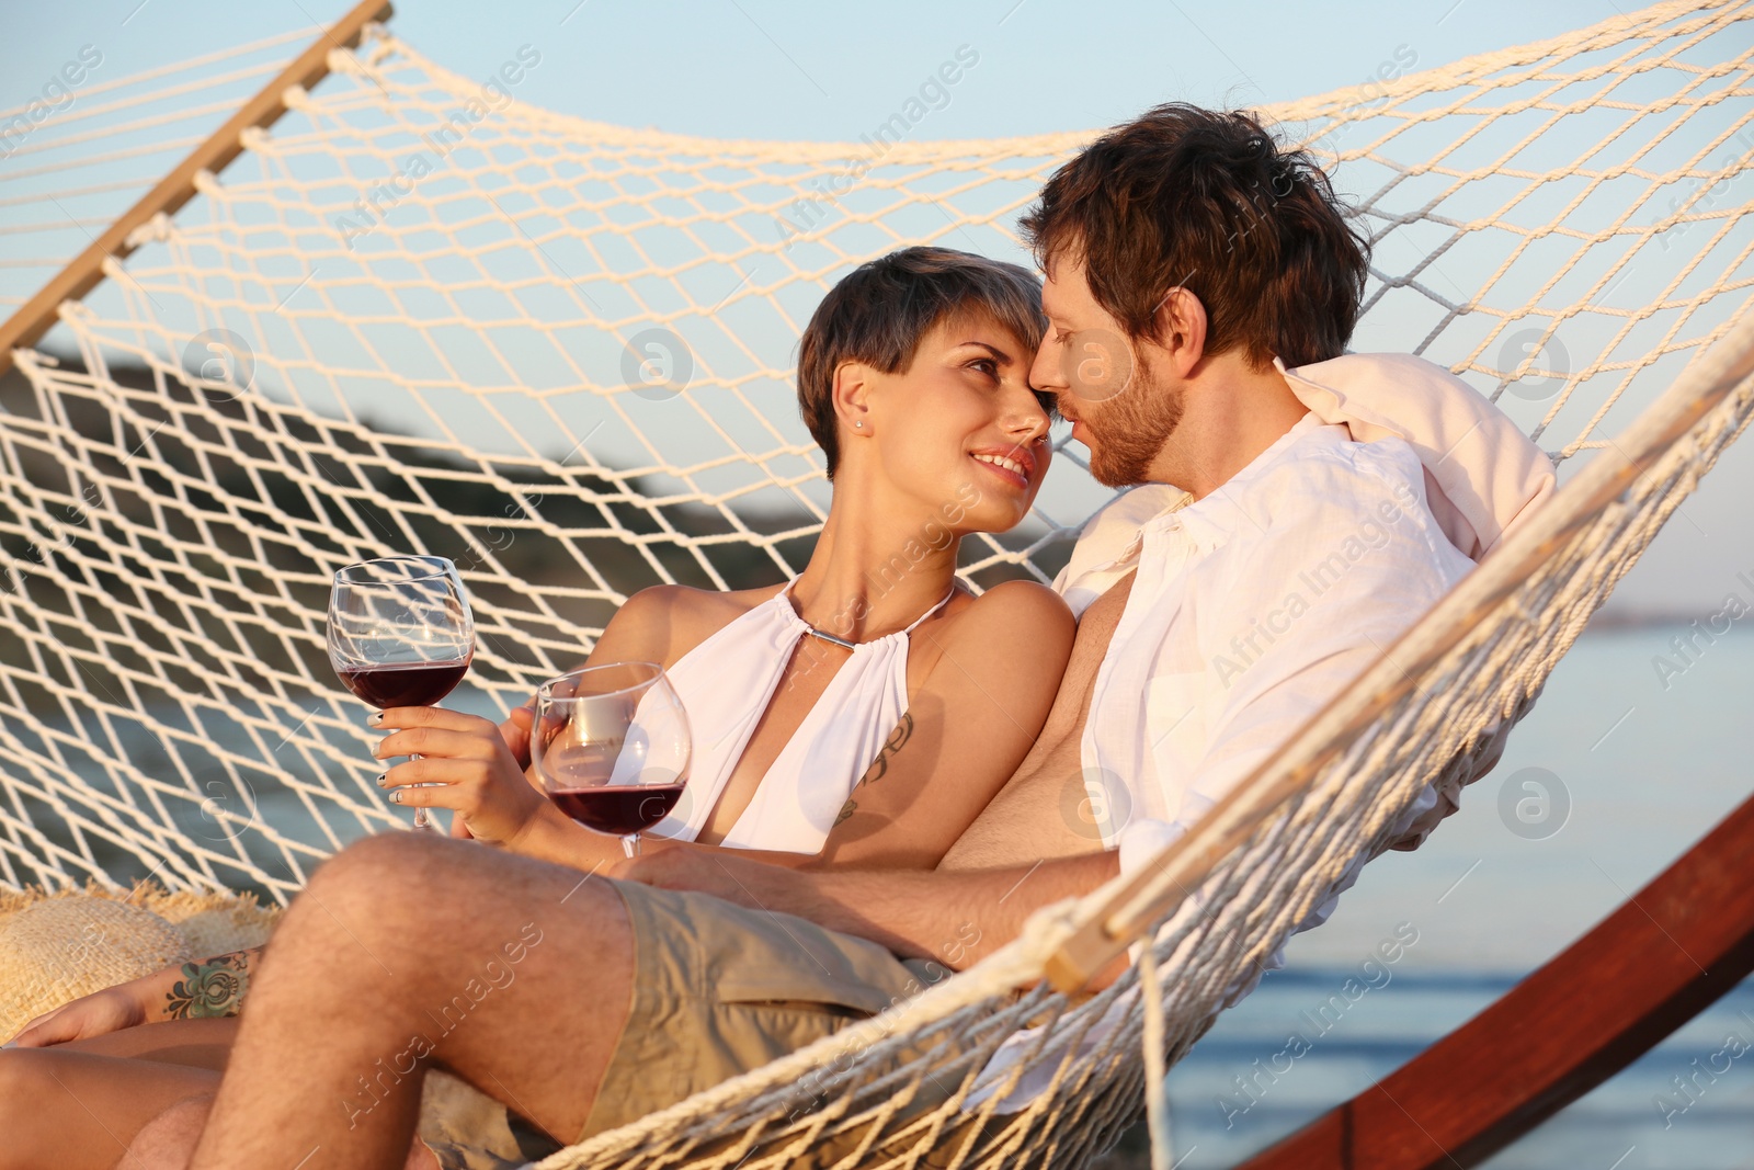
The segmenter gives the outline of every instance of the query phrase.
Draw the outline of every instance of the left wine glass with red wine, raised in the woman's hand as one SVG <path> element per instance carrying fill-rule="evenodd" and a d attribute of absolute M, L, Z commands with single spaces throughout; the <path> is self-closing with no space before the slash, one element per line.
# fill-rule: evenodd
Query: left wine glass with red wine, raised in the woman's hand
<path fill-rule="evenodd" d="M 386 556 L 337 572 L 328 651 L 347 689 L 379 710 L 437 703 L 475 656 L 475 619 L 456 565 Z M 414 828 L 438 830 L 426 809 L 414 810 Z"/>

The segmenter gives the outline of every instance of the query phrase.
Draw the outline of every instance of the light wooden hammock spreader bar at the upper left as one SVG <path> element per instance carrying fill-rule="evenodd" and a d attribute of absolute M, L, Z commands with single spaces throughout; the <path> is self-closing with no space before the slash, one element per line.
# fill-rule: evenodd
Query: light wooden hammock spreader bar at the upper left
<path fill-rule="evenodd" d="M 360 0 L 344 18 L 335 21 L 310 46 L 293 60 L 291 65 L 270 81 L 261 91 L 246 102 L 223 126 L 196 146 L 175 170 L 160 179 L 158 186 L 140 196 L 109 226 L 103 235 L 79 253 L 70 265 L 61 268 L 54 279 L 44 284 L 35 296 L 14 312 L 5 325 L 0 325 L 0 375 L 12 368 L 12 351 L 33 346 L 56 321 L 56 310 L 63 300 L 79 300 L 103 279 L 103 260 L 114 256 L 123 260 L 133 249 L 128 237 L 133 230 L 153 216 L 163 212 L 172 216 L 179 207 L 195 196 L 195 175 L 202 170 L 219 174 L 226 165 L 244 153 L 239 137 L 251 126 L 272 126 L 286 112 L 281 95 L 288 86 L 312 88 L 328 75 L 328 54 L 332 49 L 351 49 L 360 44 L 360 37 L 370 21 L 386 19 L 391 12 L 389 0 Z"/>

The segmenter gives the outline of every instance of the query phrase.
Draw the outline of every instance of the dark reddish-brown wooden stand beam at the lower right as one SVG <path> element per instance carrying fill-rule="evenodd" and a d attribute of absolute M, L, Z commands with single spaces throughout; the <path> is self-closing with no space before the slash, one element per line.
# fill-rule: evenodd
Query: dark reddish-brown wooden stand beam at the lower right
<path fill-rule="evenodd" d="M 1238 1170 L 1486 1161 L 1754 970 L 1750 856 L 1754 800 L 1496 1003 Z"/>

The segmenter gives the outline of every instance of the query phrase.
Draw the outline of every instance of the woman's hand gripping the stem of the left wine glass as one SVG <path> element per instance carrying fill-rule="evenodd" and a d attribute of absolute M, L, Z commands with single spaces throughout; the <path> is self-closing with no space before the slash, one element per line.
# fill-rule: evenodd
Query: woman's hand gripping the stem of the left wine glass
<path fill-rule="evenodd" d="M 517 728 L 516 712 L 507 723 L 521 730 L 528 753 L 528 723 Z M 400 805 L 451 809 L 470 837 L 510 849 L 549 805 L 524 777 L 505 724 L 442 707 L 391 707 L 375 726 L 400 728 L 379 740 L 374 751 L 379 760 L 424 756 L 379 777 L 379 786 L 391 789 L 391 800 Z M 410 788 L 414 784 L 431 788 Z"/>

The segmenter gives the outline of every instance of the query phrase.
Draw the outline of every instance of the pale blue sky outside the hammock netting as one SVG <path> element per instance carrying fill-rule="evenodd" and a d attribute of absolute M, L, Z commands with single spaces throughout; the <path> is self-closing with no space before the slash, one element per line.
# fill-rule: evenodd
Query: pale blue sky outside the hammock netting
<path fill-rule="evenodd" d="M 28 102 L 86 46 L 103 75 L 174 65 L 347 9 L 319 0 L 98 0 L 18 5 L 0 40 L 0 107 Z M 1624 11 L 1633 11 L 1626 7 Z M 1280 102 L 1431 68 L 1614 18 L 1601 0 L 882 5 L 777 0 L 403 0 L 398 37 L 467 77 L 521 47 L 544 68 L 519 100 L 595 121 L 723 139 L 854 140 L 942 61 L 977 60 L 919 139 L 1089 130 L 1163 100 Z M 0 184 L 5 174 L 0 170 Z M 0 226 L 7 210 L 0 200 Z M 1754 451 L 1733 449 L 1612 602 L 1624 614 L 1714 612 L 1754 577 Z"/>

